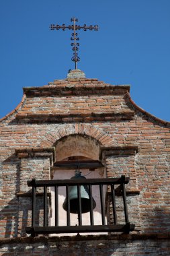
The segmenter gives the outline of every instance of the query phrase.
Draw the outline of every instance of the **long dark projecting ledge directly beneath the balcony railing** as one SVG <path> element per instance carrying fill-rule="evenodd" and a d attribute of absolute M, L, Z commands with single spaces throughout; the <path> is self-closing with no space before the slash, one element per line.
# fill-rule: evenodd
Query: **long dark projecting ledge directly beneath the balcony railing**
<path fill-rule="evenodd" d="M 50 243 L 50 242 L 77 242 L 77 241 L 105 241 L 105 240 L 148 240 L 148 239 L 170 239 L 170 232 L 166 233 L 142 233 L 142 234 L 99 234 L 99 235 L 77 235 L 77 236 L 37 236 L 0 238 L 0 245 L 24 244 L 24 243 Z"/>

